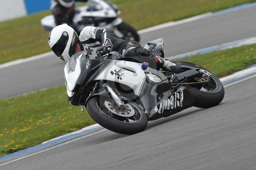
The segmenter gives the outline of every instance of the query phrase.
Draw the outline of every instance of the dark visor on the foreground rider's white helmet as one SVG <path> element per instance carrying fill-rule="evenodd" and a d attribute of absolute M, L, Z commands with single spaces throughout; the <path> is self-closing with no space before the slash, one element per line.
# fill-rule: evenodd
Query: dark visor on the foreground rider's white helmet
<path fill-rule="evenodd" d="M 54 54 L 56 54 L 62 60 L 64 60 L 64 58 L 62 57 L 62 54 L 67 46 L 67 43 L 68 43 L 68 33 L 63 32 L 60 39 L 52 47 L 52 51 L 54 52 Z"/>

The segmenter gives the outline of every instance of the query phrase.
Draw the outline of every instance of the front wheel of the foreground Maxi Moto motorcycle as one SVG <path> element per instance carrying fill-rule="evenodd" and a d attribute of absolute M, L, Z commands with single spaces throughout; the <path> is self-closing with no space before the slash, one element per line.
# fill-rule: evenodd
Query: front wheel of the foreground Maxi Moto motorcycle
<path fill-rule="evenodd" d="M 102 127 L 120 134 L 139 133 L 148 125 L 146 113 L 132 102 L 118 107 L 112 98 L 96 96 L 87 102 L 87 110 L 92 119 Z"/>

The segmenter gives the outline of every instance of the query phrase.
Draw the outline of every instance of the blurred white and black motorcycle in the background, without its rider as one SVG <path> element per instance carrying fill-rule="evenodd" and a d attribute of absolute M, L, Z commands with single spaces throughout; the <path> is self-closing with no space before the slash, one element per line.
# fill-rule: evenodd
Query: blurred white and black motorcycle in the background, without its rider
<path fill-rule="evenodd" d="M 120 13 L 115 4 L 106 0 L 89 0 L 86 6 L 76 8 L 73 18 L 73 23 L 76 26 L 74 29 L 77 34 L 80 34 L 85 26 L 110 28 L 115 32 L 117 38 L 139 42 L 140 35 L 137 30 L 119 18 Z M 53 15 L 41 19 L 41 24 L 44 29 L 49 31 L 56 27 Z"/>

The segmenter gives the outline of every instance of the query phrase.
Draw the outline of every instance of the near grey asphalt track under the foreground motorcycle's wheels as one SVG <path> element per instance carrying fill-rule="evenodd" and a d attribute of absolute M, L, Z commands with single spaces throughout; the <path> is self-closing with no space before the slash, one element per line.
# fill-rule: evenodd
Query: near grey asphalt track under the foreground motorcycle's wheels
<path fill-rule="evenodd" d="M 255 81 L 225 88 L 218 106 L 151 121 L 141 133 L 105 130 L 0 169 L 256 169 Z"/>

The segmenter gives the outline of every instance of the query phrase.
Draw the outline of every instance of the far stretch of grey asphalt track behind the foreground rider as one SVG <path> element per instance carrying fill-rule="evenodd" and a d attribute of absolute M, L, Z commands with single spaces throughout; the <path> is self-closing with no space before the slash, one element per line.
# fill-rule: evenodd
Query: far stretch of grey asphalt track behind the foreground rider
<path fill-rule="evenodd" d="M 141 35 L 141 43 L 164 38 L 166 56 L 173 56 L 248 38 L 256 35 L 255 11 L 254 6 L 148 32 Z M 64 65 L 52 56 L 1 68 L 0 98 L 64 84 Z"/>

